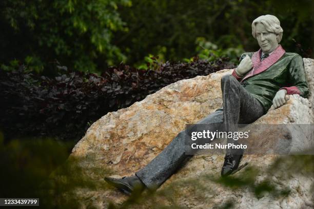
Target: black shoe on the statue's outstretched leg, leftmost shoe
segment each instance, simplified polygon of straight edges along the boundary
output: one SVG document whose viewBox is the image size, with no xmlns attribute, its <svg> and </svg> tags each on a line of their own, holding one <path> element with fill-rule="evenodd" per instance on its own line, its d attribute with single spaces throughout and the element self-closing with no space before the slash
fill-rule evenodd
<svg viewBox="0 0 314 209">
<path fill-rule="evenodd" d="M 123 177 L 121 179 L 105 177 L 105 181 L 123 193 L 131 195 L 133 191 L 142 192 L 145 184 L 137 176 Z"/>
</svg>

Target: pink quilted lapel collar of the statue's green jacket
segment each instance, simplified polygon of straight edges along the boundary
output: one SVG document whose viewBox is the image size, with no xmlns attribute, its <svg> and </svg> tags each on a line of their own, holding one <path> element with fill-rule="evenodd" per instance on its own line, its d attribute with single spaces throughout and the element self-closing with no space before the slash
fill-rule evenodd
<svg viewBox="0 0 314 209">
<path fill-rule="evenodd" d="M 281 47 L 281 45 L 279 45 L 277 49 L 275 49 L 273 53 L 269 55 L 269 57 L 263 59 L 263 61 L 261 61 L 262 49 L 254 52 L 252 55 L 253 69 L 247 73 L 244 78 L 242 78 L 241 82 L 249 77 L 252 77 L 253 75 L 267 70 L 270 66 L 275 64 L 285 54 L 285 52 L 286 51 Z"/>
</svg>

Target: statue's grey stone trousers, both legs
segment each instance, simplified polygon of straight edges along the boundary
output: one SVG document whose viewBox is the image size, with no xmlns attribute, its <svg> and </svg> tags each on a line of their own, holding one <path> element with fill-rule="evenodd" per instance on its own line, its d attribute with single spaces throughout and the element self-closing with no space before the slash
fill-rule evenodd
<svg viewBox="0 0 314 209">
<path fill-rule="evenodd" d="M 197 124 L 216 123 L 210 127 L 210 131 L 215 131 L 217 124 L 223 123 L 223 126 L 219 127 L 223 127 L 227 132 L 235 132 L 238 130 L 238 124 L 251 123 L 264 114 L 261 103 L 233 76 L 222 77 L 221 90 L 223 108 L 209 114 Z M 180 168 L 184 160 L 191 157 L 185 154 L 185 137 L 186 132 L 180 132 L 158 156 L 135 173 L 148 188 L 159 187 Z"/>
</svg>

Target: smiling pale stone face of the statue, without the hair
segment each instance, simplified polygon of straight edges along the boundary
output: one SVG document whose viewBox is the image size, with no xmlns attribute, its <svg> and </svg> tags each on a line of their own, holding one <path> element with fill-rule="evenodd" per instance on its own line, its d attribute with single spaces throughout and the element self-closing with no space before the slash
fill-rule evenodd
<svg viewBox="0 0 314 209">
<path fill-rule="evenodd" d="M 277 35 L 268 32 L 261 23 L 256 25 L 256 39 L 262 51 L 266 54 L 273 52 L 278 47 Z"/>
</svg>

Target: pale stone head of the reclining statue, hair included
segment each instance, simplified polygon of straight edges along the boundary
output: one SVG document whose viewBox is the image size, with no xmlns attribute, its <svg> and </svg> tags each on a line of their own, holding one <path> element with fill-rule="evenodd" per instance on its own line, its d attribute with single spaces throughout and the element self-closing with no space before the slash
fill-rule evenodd
<svg viewBox="0 0 314 209">
<path fill-rule="evenodd" d="M 258 40 L 259 46 L 264 53 L 274 51 L 282 38 L 283 29 L 276 16 L 266 14 L 253 20 L 252 35 Z"/>
</svg>

